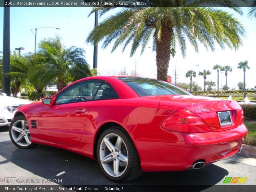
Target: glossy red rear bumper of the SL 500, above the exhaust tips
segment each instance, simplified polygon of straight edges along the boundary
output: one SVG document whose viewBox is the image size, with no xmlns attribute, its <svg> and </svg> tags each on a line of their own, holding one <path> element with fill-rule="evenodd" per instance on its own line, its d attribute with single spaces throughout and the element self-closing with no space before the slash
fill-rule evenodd
<svg viewBox="0 0 256 192">
<path fill-rule="evenodd" d="M 141 168 L 145 172 L 181 171 L 202 160 L 210 164 L 235 154 L 247 135 L 244 124 L 221 132 L 174 133 L 177 140 L 136 140 L 141 159 Z M 136 138 L 136 136 L 135 136 Z M 166 138 L 166 137 L 164 137 Z"/>
</svg>

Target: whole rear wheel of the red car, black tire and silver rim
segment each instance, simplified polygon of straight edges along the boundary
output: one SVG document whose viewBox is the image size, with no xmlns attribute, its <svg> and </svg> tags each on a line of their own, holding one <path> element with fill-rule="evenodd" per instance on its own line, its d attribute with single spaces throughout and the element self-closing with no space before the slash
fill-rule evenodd
<svg viewBox="0 0 256 192">
<path fill-rule="evenodd" d="M 97 160 L 108 179 L 115 182 L 133 180 L 142 174 L 132 139 L 120 127 L 111 127 L 100 135 Z"/>
</svg>

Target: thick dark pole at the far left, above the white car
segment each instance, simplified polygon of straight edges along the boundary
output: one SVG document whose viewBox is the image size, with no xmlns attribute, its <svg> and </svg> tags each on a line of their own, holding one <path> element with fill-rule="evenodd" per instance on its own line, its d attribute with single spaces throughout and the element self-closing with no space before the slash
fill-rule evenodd
<svg viewBox="0 0 256 192">
<path fill-rule="evenodd" d="M 10 76 L 6 75 L 10 70 L 10 7 L 4 6 L 3 92 L 7 96 L 11 96 Z"/>
</svg>

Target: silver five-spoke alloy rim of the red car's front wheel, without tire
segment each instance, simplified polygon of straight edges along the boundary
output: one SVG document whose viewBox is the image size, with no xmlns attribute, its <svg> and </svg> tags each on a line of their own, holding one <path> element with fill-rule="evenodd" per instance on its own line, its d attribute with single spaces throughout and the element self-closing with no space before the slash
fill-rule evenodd
<svg viewBox="0 0 256 192">
<path fill-rule="evenodd" d="M 31 144 L 27 121 L 18 120 L 12 125 L 12 139 L 22 147 Z"/>
</svg>

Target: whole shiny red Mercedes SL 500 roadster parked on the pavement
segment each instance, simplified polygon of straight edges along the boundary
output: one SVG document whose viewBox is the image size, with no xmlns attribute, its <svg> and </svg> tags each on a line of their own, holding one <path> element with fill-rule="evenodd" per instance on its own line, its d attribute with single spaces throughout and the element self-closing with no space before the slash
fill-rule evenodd
<svg viewBox="0 0 256 192">
<path fill-rule="evenodd" d="M 199 169 L 240 151 L 247 134 L 236 101 L 192 96 L 156 79 L 94 76 L 14 111 L 10 137 L 97 159 L 113 181 L 142 172 Z"/>
</svg>

